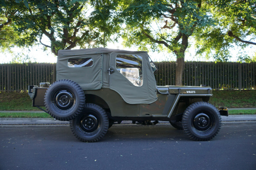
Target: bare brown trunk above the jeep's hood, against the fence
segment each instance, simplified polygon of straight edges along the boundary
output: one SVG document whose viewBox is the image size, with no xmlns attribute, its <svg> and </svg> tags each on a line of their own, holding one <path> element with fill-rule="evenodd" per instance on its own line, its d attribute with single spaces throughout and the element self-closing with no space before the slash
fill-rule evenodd
<svg viewBox="0 0 256 170">
<path fill-rule="evenodd" d="M 182 76 L 185 68 L 184 57 L 177 57 L 176 59 L 176 71 L 175 71 L 175 85 L 182 85 Z"/>
</svg>

